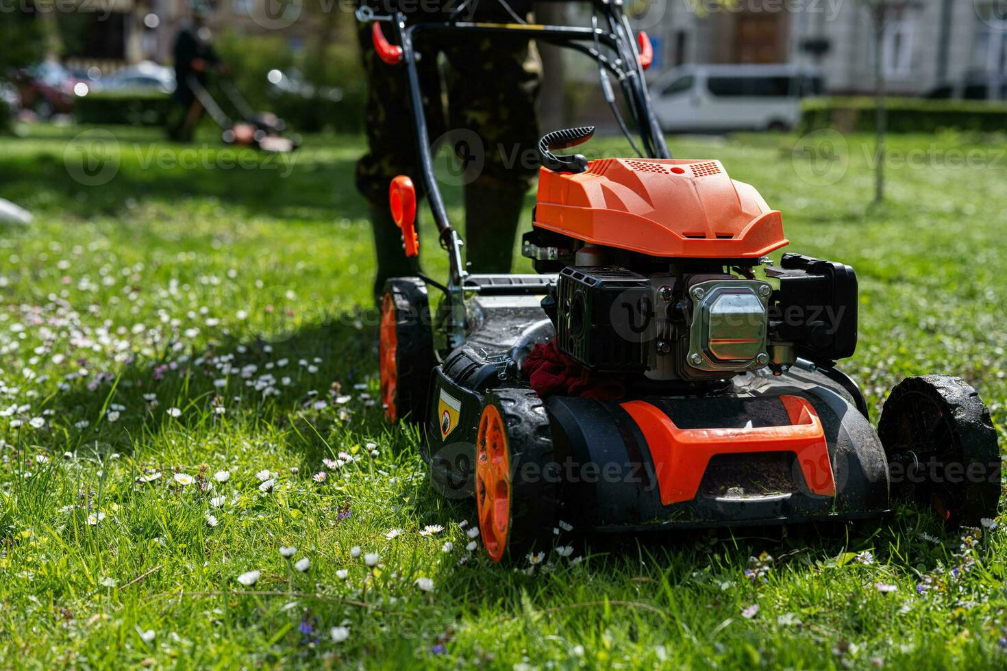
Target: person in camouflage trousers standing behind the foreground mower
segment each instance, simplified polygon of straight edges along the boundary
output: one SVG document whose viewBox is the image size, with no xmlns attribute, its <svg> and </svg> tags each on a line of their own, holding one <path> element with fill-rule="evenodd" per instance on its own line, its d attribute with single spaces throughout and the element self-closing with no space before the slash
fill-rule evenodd
<svg viewBox="0 0 1007 671">
<path fill-rule="evenodd" d="M 432 11 L 432 4 L 407 2 L 402 11 L 410 14 L 411 21 L 443 21 L 448 7 L 457 6 L 444 0 Z M 380 0 L 373 7 L 378 13 L 395 11 L 396 0 Z M 463 13 L 465 20 L 514 23 L 517 18 L 531 20 L 531 0 L 508 5 L 480 2 Z M 425 194 L 404 66 L 389 65 L 378 57 L 371 30 L 366 23 L 358 30 L 369 88 L 369 151 L 356 164 L 356 186 L 370 204 L 378 256 L 374 294 L 380 304 L 387 279 L 414 275 L 389 210 L 389 183 L 396 175 L 408 175 L 417 196 Z M 464 185 L 465 257 L 478 273 L 509 273 L 525 194 L 538 174 L 538 165 L 527 160 L 529 151 L 534 155 L 539 138 L 535 104 L 542 62 L 538 51 L 520 36 L 438 39 L 429 34 L 417 36 L 416 49 L 423 54 L 417 67 L 431 141 L 467 130 L 481 143 L 481 148 L 466 143 L 452 147 L 463 165 L 476 152 L 483 158 L 481 170 Z M 444 72 L 438 52 L 446 56 Z"/>
</svg>

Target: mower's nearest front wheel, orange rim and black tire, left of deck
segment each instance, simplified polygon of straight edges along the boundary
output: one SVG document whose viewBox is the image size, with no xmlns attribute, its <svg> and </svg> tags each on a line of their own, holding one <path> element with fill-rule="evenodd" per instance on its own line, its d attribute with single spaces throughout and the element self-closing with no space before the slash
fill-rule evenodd
<svg viewBox="0 0 1007 671">
<path fill-rule="evenodd" d="M 477 436 L 475 498 L 490 558 L 547 551 L 559 508 L 560 471 L 542 399 L 525 388 L 490 392 Z"/>
</svg>

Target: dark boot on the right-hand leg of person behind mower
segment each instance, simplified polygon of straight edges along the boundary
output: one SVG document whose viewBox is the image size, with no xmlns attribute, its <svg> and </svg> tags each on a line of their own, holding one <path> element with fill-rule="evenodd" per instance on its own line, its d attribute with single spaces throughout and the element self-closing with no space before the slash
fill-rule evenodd
<svg viewBox="0 0 1007 671">
<path fill-rule="evenodd" d="M 465 185 L 465 258 L 471 273 L 510 273 L 526 189 Z"/>
</svg>

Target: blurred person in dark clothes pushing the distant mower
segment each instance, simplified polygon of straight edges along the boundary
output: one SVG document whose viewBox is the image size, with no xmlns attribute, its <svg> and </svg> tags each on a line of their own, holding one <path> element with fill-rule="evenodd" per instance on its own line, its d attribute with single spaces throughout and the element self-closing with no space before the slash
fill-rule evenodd
<svg viewBox="0 0 1007 671">
<path fill-rule="evenodd" d="M 168 127 L 168 136 L 178 142 L 191 142 L 196 124 L 202 118 L 202 105 L 189 86 L 189 77 L 202 87 L 206 86 L 206 74 L 213 67 L 220 67 L 221 60 L 210 42 L 211 33 L 206 26 L 209 7 L 202 3 L 192 5 L 192 21 L 183 25 L 175 36 L 175 92 L 180 115 Z"/>
</svg>

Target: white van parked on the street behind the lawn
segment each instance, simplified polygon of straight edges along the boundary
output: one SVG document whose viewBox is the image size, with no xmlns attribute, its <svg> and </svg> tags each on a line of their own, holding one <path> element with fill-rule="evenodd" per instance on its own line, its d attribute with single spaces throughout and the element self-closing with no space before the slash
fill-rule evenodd
<svg viewBox="0 0 1007 671">
<path fill-rule="evenodd" d="M 681 65 L 650 87 L 665 131 L 707 133 L 794 128 L 801 99 L 823 89 L 818 68 L 751 64 Z"/>
</svg>

